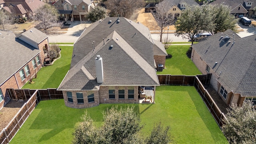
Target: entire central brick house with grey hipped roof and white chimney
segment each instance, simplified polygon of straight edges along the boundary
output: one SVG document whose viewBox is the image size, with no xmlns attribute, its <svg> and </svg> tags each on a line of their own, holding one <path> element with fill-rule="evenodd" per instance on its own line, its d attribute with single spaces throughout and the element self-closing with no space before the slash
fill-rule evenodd
<svg viewBox="0 0 256 144">
<path fill-rule="evenodd" d="M 152 89 L 160 85 L 156 63 L 164 65 L 166 55 L 141 23 L 123 17 L 98 20 L 75 42 L 70 70 L 58 90 L 72 108 L 137 103 L 139 86 L 154 98 Z"/>
</svg>

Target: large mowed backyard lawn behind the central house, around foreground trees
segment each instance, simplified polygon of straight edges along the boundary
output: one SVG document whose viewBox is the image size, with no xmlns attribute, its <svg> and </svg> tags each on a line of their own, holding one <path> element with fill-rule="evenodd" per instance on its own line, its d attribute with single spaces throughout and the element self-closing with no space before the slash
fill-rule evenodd
<svg viewBox="0 0 256 144">
<path fill-rule="evenodd" d="M 228 144 L 193 86 L 159 86 L 155 101 L 135 104 L 144 125 L 142 136 L 149 136 L 154 124 L 162 122 L 171 127 L 172 144 Z M 41 101 L 10 144 L 70 144 L 74 126 L 86 110 L 94 124 L 100 126 L 102 112 L 114 105 L 132 104 L 76 109 L 66 107 L 63 99 Z"/>
</svg>

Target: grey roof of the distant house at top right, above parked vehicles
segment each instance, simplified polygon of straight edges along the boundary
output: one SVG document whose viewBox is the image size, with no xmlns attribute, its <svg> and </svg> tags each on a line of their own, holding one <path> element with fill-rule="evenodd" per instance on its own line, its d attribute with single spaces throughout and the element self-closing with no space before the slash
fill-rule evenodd
<svg viewBox="0 0 256 144">
<path fill-rule="evenodd" d="M 211 2 L 210 4 L 225 4 L 231 7 L 231 14 L 236 13 L 247 13 L 247 8 L 243 5 L 244 0 L 215 0 L 214 2 Z M 253 2 L 256 4 L 256 2 Z M 253 4 L 252 3 L 252 4 Z M 238 8 L 240 9 L 238 10 Z"/>
</svg>

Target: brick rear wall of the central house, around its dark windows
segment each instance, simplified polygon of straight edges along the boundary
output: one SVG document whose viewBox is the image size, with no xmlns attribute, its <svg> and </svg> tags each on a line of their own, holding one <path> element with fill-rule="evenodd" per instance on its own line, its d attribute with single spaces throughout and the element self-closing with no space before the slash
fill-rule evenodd
<svg viewBox="0 0 256 144">
<path fill-rule="evenodd" d="M 102 104 L 102 103 L 109 103 L 109 104 L 112 104 L 112 103 L 136 103 L 137 96 L 138 96 L 138 86 L 134 86 L 134 98 L 133 99 L 128 99 L 128 86 L 124 87 L 125 88 L 124 99 L 118 98 L 118 86 L 116 86 L 115 88 L 116 88 L 115 99 L 109 99 L 108 86 L 100 86 L 100 90 L 94 91 L 94 102 L 90 102 L 90 103 L 88 103 L 87 91 L 70 91 L 70 92 L 72 92 L 73 102 L 68 102 L 68 97 L 67 97 L 67 93 L 66 93 L 67 91 L 62 91 L 62 92 L 63 92 L 65 105 L 70 108 L 89 108 L 92 106 L 98 106 L 99 104 Z M 84 104 L 77 103 L 76 92 L 83 93 Z"/>
</svg>

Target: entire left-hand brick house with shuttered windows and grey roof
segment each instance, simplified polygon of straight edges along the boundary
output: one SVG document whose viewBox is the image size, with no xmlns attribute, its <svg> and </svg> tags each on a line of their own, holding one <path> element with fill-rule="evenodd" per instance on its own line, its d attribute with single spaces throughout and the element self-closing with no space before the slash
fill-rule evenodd
<svg viewBox="0 0 256 144">
<path fill-rule="evenodd" d="M 0 109 L 10 100 L 7 88 L 21 88 L 40 70 L 44 47 L 49 48 L 48 36 L 36 28 L 17 37 L 0 31 Z"/>
</svg>

